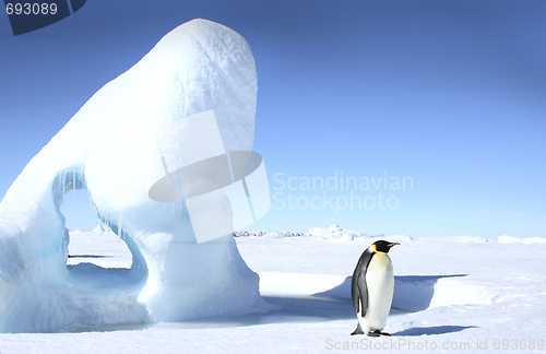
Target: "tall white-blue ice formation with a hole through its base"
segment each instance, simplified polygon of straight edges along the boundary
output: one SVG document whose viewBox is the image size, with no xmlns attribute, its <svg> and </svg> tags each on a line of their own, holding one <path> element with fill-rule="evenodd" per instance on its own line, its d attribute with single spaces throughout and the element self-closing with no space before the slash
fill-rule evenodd
<svg viewBox="0 0 546 354">
<path fill-rule="evenodd" d="M 195 243 L 185 203 L 156 202 L 149 188 L 163 172 L 154 131 L 213 109 L 225 150 L 251 151 L 256 99 L 248 44 L 205 20 L 167 34 L 90 98 L 0 203 L 0 331 L 175 321 L 253 306 L 259 278 L 233 236 Z M 73 188 L 87 189 L 98 217 L 127 243 L 131 269 L 67 266 L 60 205 Z M 216 202 L 230 213 L 225 196 Z"/>
</svg>

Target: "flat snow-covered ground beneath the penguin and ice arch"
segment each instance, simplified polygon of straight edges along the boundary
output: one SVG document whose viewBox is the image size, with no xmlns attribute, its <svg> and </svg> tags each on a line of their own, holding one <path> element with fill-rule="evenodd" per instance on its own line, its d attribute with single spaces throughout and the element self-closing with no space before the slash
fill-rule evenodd
<svg viewBox="0 0 546 354">
<path fill-rule="evenodd" d="M 0 353 L 546 352 L 544 239 L 381 236 L 401 243 L 390 252 L 396 283 L 385 330 L 392 337 L 370 339 L 349 335 L 356 327 L 349 283 L 377 237 L 340 236 L 237 237 L 271 304 L 263 312 L 0 334 Z M 69 263 L 102 267 L 129 267 L 131 257 L 115 235 L 79 231 L 71 232 L 69 253 L 76 256 Z"/>
</svg>

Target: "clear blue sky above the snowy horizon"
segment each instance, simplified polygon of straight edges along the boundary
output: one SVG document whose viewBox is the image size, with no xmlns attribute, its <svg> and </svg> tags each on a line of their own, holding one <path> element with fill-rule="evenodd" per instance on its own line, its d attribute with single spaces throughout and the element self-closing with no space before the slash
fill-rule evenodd
<svg viewBox="0 0 546 354">
<path fill-rule="evenodd" d="M 0 194 L 97 90 L 195 17 L 240 33 L 257 62 L 272 209 L 249 229 L 546 237 L 544 1 L 87 0 L 17 37 L 0 15 Z M 404 177 L 413 188 L 390 188 Z M 83 197 L 63 211 L 93 227 Z"/>
</svg>

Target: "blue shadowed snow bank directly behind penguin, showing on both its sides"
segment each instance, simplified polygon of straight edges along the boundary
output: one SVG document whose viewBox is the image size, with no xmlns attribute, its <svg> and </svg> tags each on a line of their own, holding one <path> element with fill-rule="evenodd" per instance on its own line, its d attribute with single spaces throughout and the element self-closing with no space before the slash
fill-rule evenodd
<svg viewBox="0 0 546 354">
<path fill-rule="evenodd" d="M 438 280 L 443 278 L 460 278 L 468 274 L 451 275 L 396 275 L 394 276 L 394 295 L 392 308 L 403 311 L 423 311 L 430 306 L 435 295 L 435 286 Z M 316 296 L 336 296 L 351 298 L 351 282 L 353 276 L 347 276 L 340 285 L 314 294 Z"/>
</svg>

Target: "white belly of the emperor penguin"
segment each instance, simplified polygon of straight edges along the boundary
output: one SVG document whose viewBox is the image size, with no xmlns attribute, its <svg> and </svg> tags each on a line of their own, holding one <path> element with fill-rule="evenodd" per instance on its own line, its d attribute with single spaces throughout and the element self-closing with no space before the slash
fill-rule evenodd
<svg viewBox="0 0 546 354">
<path fill-rule="evenodd" d="M 394 292 L 394 273 L 389 256 L 377 252 L 371 258 L 366 271 L 368 287 L 368 310 L 364 318 L 357 315 L 360 328 L 365 333 L 382 330 L 391 310 L 392 294 Z"/>
</svg>

